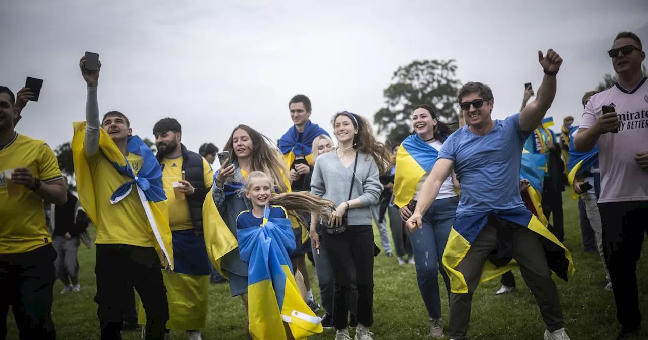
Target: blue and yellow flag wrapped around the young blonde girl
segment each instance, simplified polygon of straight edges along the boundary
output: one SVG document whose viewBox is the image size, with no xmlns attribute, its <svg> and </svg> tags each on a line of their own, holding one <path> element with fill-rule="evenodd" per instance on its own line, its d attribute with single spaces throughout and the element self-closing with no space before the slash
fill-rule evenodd
<svg viewBox="0 0 648 340">
<path fill-rule="evenodd" d="M 289 253 L 295 236 L 288 218 L 268 218 L 262 225 L 238 229 L 240 255 L 248 262 L 248 321 L 253 339 L 286 339 L 287 323 L 295 339 L 323 332 L 321 318 L 301 297 Z"/>
</svg>

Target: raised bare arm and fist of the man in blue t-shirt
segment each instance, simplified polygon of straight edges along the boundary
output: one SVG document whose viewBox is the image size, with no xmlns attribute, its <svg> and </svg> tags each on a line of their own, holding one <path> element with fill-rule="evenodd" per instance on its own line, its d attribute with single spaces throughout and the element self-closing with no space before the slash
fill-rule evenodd
<svg viewBox="0 0 648 340">
<path fill-rule="evenodd" d="M 538 51 L 538 60 L 540 66 L 544 69 L 544 78 L 538 88 L 538 94 L 520 113 L 520 128 L 522 131 L 531 132 L 540 125 L 544 115 L 546 115 L 553 98 L 556 96 L 556 74 L 561 68 L 561 56 L 549 49 L 546 56 L 542 56 L 542 51 Z"/>
</svg>

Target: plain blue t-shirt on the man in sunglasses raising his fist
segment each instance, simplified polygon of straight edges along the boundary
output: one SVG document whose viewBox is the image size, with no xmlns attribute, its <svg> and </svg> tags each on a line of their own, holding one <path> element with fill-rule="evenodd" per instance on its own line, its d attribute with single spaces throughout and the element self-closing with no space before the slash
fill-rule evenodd
<svg viewBox="0 0 648 340">
<path fill-rule="evenodd" d="M 446 139 L 439 158 L 454 161 L 461 183 L 457 215 L 525 207 L 520 196 L 522 146 L 529 133 L 520 129 L 520 113 L 495 120 L 486 135 L 475 135 L 468 126 Z"/>
</svg>

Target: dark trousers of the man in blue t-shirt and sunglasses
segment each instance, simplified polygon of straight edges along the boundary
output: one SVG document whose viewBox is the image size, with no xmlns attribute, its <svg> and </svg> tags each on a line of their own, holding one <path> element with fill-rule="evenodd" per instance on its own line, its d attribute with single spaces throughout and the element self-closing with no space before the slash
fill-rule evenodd
<svg viewBox="0 0 648 340">
<path fill-rule="evenodd" d="M 518 225 L 513 231 L 513 258 L 520 264 L 522 277 L 535 296 L 542 320 L 547 329 L 553 332 L 563 327 L 562 308 L 558 289 L 551 279 L 551 269 L 540 244 L 540 237 L 542 236 L 527 227 Z M 448 328 L 451 339 L 468 339 L 472 295 L 480 283 L 481 271 L 489 253 L 497 246 L 497 229 L 491 223 L 487 223 L 456 268 L 466 280 L 468 293 L 450 293 Z"/>
</svg>

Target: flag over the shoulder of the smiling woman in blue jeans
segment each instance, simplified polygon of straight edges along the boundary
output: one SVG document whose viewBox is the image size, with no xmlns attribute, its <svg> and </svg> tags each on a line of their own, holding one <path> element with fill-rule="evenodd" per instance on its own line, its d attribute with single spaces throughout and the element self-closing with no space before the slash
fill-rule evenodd
<svg viewBox="0 0 648 340">
<path fill-rule="evenodd" d="M 439 152 L 417 134 L 406 137 L 396 155 L 394 205 L 402 208 L 410 203 L 421 177 L 432 170 L 438 156 Z"/>
</svg>

